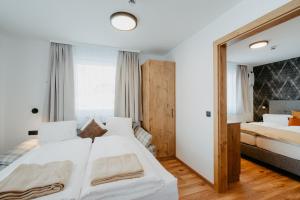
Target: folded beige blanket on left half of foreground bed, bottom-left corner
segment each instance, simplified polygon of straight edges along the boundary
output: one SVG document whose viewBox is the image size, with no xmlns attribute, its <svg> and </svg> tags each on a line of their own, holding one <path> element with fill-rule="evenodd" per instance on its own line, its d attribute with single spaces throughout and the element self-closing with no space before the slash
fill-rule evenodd
<svg viewBox="0 0 300 200">
<path fill-rule="evenodd" d="M 0 199 L 27 200 L 60 192 L 67 184 L 71 161 L 22 164 L 0 182 Z"/>
</svg>

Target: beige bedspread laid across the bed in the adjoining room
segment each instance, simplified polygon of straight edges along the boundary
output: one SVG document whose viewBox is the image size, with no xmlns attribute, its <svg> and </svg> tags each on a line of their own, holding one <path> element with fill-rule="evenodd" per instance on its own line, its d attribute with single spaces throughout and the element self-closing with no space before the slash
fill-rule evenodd
<svg viewBox="0 0 300 200">
<path fill-rule="evenodd" d="M 243 123 L 241 124 L 241 132 L 300 145 L 300 133 L 294 131 L 266 127 L 252 123 Z"/>
</svg>

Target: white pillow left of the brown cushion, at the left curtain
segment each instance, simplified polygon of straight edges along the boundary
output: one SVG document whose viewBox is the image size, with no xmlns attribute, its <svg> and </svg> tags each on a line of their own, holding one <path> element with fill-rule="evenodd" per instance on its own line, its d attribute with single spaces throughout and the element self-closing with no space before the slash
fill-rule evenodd
<svg viewBox="0 0 300 200">
<path fill-rule="evenodd" d="M 42 123 L 38 133 L 41 144 L 59 142 L 77 137 L 76 121 Z"/>
</svg>

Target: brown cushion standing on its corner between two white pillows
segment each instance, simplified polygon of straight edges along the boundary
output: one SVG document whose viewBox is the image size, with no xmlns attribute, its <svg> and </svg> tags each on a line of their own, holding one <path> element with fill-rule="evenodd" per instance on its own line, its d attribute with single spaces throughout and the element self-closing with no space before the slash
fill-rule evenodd
<svg viewBox="0 0 300 200">
<path fill-rule="evenodd" d="M 101 128 L 95 120 L 92 120 L 84 130 L 79 134 L 82 138 L 91 138 L 94 142 L 95 137 L 101 137 L 107 132 L 106 129 Z"/>
</svg>

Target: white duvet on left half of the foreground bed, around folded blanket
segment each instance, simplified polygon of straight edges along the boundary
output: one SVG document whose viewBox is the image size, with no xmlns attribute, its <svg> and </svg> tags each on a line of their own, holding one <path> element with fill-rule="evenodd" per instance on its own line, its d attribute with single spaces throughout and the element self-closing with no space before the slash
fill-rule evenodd
<svg viewBox="0 0 300 200">
<path fill-rule="evenodd" d="M 8 176 L 20 164 L 45 164 L 52 161 L 73 162 L 72 175 L 63 191 L 38 199 L 73 200 L 78 199 L 91 148 L 91 139 L 72 139 L 49 143 L 37 147 L 0 172 L 0 180 Z"/>
</svg>

